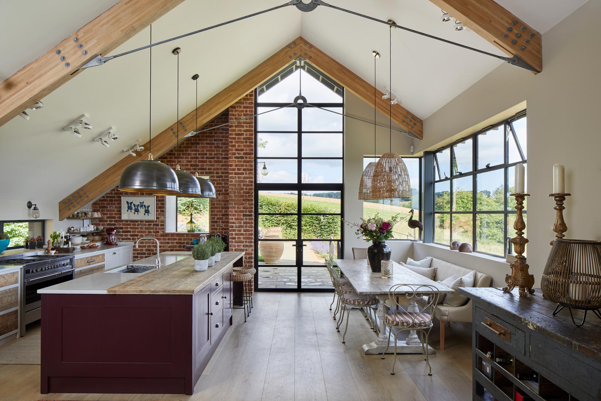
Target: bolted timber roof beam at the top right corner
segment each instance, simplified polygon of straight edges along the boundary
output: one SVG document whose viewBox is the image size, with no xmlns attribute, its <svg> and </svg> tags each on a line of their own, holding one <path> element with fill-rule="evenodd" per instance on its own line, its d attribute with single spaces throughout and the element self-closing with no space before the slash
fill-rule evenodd
<svg viewBox="0 0 601 401">
<path fill-rule="evenodd" d="M 543 37 L 493 0 L 430 0 L 451 17 L 501 49 L 543 70 Z"/>
</svg>

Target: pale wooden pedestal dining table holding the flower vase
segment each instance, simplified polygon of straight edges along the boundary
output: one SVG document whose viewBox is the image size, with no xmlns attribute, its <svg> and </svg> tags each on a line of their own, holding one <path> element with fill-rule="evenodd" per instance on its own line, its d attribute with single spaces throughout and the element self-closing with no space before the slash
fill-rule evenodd
<svg viewBox="0 0 601 401">
<path fill-rule="evenodd" d="M 387 353 L 394 352 L 394 338 L 391 337 L 390 344 L 388 344 L 388 329 L 384 324 L 384 315 L 388 312 L 388 306 L 386 306 L 386 300 L 389 299 L 389 290 L 392 285 L 395 284 L 410 284 L 413 287 L 416 285 L 429 285 L 437 288 L 440 291 L 441 296 L 444 294 L 452 293 L 453 290 L 444 284 L 430 280 L 412 270 L 406 269 L 406 267 L 393 262 L 393 273 L 392 278 L 383 278 L 382 273 L 371 272 L 370 267 L 367 265 L 365 259 L 337 259 L 335 260 L 338 268 L 343 273 L 344 277 L 349 279 L 350 284 L 355 288 L 359 295 L 371 295 L 376 296 L 379 299 L 377 305 L 377 325 L 379 327 L 379 334 L 376 340 L 369 344 L 363 344 L 362 349 L 366 355 L 375 355 L 382 353 L 388 347 Z M 419 312 L 416 300 L 419 297 L 427 296 L 433 293 L 428 287 L 421 287 L 415 294 L 413 291 L 409 291 L 409 287 L 406 287 L 407 291 L 395 291 L 394 296 L 406 296 L 409 299 L 408 312 Z M 410 295 L 409 295 L 410 294 Z M 423 353 L 424 350 L 421 346 L 421 341 L 415 330 L 409 332 L 409 336 L 405 341 L 398 341 L 397 353 Z M 428 346 L 428 353 L 436 353 L 436 351 Z"/>
</svg>

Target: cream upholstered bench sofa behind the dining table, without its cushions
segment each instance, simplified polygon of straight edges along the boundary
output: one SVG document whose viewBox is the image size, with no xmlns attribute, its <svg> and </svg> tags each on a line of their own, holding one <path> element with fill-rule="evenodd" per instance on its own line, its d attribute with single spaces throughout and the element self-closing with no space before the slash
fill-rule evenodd
<svg viewBox="0 0 601 401">
<path fill-rule="evenodd" d="M 435 281 L 444 281 L 453 275 L 462 277 L 471 272 L 471 269 L 432 258 L 430 267 L 436 267 Z M 473 287 L 490 287 L 492 277 L 484 273 L 475 272 Z M 418 300 L 418 302 L 420 302 Z M 472 322 L 472 300 L 465 305 L 450 306 L 439 303 L 434 310 L 434 317 L 441 321 L 441 349 L 445 349 L 445 322 Z"/>
</svg>

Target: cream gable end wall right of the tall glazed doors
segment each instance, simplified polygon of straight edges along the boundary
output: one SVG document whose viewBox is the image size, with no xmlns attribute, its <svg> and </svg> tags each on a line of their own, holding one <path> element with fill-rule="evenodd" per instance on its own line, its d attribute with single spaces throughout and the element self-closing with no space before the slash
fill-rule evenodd
<svg viewBox="0 0 601 401">
<path fill-rule="evenodd" d="M 373 121 L 374 108 L 357 96 L 346 92 L 344 98 L 345 113 L 353 117 Z M 388 125 L 388 116 L 377 113 L 376 122 Z M 392 123 L 395 128 L 400 128 Z M 357 199 L 359 181 L 363 173 L 363 157 L 374 154 L 374 126 L 354 119 L 344 120 L 344 216 L 349 222 L 361 223 L 363 217 L 363 201 Z M 389 151 L 389 129 L 377 127 L 376 154 L 382 155 Z M 412 138 L 400 132 L 392 131 L 392 151 L 401 156 L 410 156 L 409 146 Z M 412 256 L 410 241 L 386 241 L 392 248 L 392 260 L 406 261 Z M 355 235 L 355 228 L 344 226 L 344 258 L 353 258 L 352 247 L 367 247 L 369 243 Z"/>
</svg>

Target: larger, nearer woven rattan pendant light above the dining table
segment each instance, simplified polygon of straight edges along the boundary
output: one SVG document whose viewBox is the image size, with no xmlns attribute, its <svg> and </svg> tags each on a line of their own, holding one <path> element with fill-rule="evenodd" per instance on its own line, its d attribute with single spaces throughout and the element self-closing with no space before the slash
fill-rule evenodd
<svg viewBox="0 0 601 401">
<path fill-rule="evenodd" d="M 394 22 L 393 22 L 394 23 Z M 390 83 L 392 92 L 392 26 L 389 31 L 390 37 Z M 390 99 L 392 101 L 392 99 Z M 392 103 L 389 105 L 389 152 L 385 153 L 377 161 L 371 179 L 372 199 L 394 199 L 397 197 L 411 197 L 411 182 L 409 172 L 403 159 L 392 153 Z"/>
</svg>

